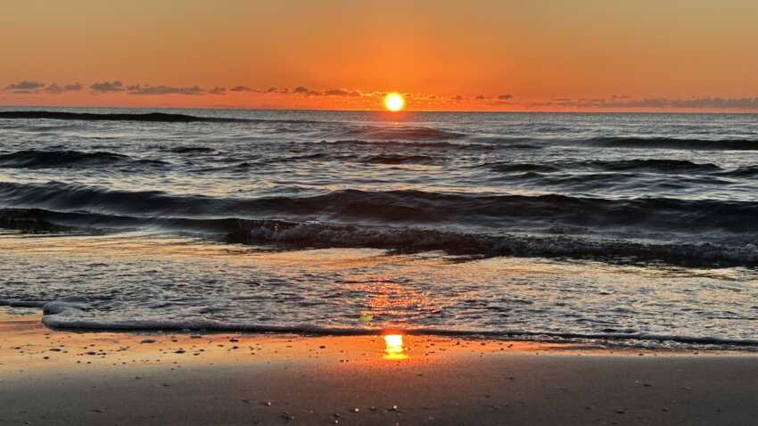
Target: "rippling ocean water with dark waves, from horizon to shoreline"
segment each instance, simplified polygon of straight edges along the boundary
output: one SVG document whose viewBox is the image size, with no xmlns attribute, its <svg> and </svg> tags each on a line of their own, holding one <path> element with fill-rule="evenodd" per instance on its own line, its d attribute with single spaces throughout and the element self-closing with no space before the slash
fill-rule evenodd
<svg viewBox="0 0 758 426">
<path fill-rule="evenodd" d="M 758 116 L 0 111 L 52 328 L 758 348 Z"/>
</svg>

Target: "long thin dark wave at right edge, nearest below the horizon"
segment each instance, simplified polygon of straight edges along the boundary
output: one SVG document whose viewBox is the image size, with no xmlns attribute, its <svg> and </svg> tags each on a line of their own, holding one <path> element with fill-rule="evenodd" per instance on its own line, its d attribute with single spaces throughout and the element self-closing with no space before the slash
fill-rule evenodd
<svg viewBox="0 0 758 426">
<path fill-rule="evenodd" d="M 594 137 L 576 141 L 608 148 L 657 148 L 700 151 L 758 151 L 756 139 L 680 139 L 672 137 Z"/>
</svg>

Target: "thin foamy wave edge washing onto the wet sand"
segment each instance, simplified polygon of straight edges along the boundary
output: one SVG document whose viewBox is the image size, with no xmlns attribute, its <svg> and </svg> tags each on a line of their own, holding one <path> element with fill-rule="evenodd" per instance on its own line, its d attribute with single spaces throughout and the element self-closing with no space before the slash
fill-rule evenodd
<svg viewBox="0 0 758 426">
<path fill-rule="evenodd" d="M 482 337 L 491 339 L 536 339 L 536 340 L 606 340 L 673 342 L 691 345 L 721 347 L 758 347 L 756 339 L 730 339 L 719 336 L 692 336 L 651 332 L 552 332 L 540 330 L 473 330 L 441 327 L 350 327 L 315 324 L 255 324 L 234 321 L 194 319 L 108 319 L 93 315 L 96 307 L 90 300 L 68 296 L 50 301 L 0 299 L 0 306 L 42 308 L 42 323 L 53 330 L 80 332 L 251 332 L 295 333 L 303 335 L 365 336 L 394 332 L 409 335 L 433 335 L 448 337 Z M 639 344 L 639 343 L 637 343 Z"/>
</svg>

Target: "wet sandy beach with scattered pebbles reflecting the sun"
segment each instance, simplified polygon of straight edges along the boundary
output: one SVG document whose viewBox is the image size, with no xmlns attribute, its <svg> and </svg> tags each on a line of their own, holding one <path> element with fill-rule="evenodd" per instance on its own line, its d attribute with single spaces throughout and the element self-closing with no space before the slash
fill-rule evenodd
<svg viewBox="0 0 758 426">
<path fill-rule="evenodd" d="M 758 356 L 405 336 L 53 332 L 0 316 L 0 424 L 754 424 Z"/>
</svg>

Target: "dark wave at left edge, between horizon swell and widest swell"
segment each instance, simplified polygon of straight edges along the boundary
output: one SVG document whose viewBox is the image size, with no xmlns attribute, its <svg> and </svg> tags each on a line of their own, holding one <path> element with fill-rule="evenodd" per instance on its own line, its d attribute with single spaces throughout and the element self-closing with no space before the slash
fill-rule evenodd
<svg viewBox="0 0 758 426">
<path fill-rule="evenodd" d="M 161 160 L 136 160 L 113 152 L 26 150 L 0 155 L 0 168 L 75 168 L 119 163 L 142 166 L 169 164 Z"/>
</svg>

